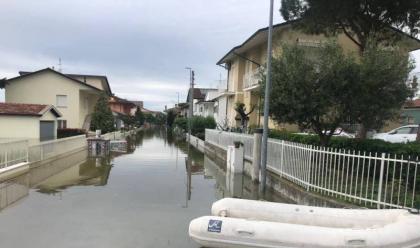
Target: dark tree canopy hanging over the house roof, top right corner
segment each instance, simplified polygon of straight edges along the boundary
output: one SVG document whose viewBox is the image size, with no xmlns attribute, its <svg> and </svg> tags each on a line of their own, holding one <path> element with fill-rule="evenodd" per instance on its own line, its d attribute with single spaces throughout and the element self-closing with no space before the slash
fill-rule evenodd
<svg viewBox="0 0 420 248">
<path fill-rule="evenodd" d="M 285 20 L 298 20 L 309 33 L 334 35 L 343 32 L 363 51 L 374 38 L 375 44 L 393 43 L 399 31 L 415 36 L 420 28 L 418 0 L 281 0 Z"/>
</svg>

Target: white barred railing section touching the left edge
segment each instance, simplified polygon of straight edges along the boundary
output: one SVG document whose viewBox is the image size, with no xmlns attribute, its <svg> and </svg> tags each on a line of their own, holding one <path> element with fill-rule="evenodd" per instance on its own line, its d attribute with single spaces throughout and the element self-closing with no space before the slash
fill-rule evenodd
<svg viewBox="0 0 420 248">
<path fill-rule="evenodd" d="M 0 169 L 28 161 L 28 140 L 0 140 Z"/>
</svg>

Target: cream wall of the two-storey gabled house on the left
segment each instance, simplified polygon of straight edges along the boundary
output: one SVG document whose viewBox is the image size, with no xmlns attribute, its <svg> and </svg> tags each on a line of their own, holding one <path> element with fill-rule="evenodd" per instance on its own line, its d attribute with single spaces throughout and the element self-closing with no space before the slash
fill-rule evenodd
<svg viewBox="0 0 420 248">
<path fill-rule="evenodd" d="M 56 106 L 57 95 L 67 96 L 67 107 L 57 107 L 62 113 L 60 119 L 67 120 L 68 128 L 81 128 L 85 115 L 80 91 L 90 92 L 89 97 L 97 91 L 76 83 L 53 72 L 42 72 L 32 76 L 13 80 L 5 87 L 5 100 L 8 103 L 35 103 Z M 90 102 L 93 102 L 90 99 Z M 91 104 L 92 105 L 92 104 Z"/>
</svg>

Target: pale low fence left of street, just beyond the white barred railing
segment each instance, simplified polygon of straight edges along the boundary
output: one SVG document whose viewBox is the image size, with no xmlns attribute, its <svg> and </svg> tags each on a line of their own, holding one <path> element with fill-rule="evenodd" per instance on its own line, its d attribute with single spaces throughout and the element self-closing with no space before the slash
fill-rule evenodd
<svg viewBox="0 0 420 248">
<path fill-rule="evenodd" d="M 40 142 L 29 147 L 29 162 L 49 159 L 83 147 L 87 147 L 85 135 Z"/>
</svg>

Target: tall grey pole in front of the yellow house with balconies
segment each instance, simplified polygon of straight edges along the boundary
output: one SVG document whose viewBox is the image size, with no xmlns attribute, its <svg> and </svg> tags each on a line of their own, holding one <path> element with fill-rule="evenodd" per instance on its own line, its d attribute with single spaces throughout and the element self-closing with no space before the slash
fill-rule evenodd
<svg viewBox="0 0 420 248">
<path fill-rule="evenodd" d="M 267 142 L 268 142 L 268 115 L 270 111 L 270 90 L 271 90 L 271 57 L 273 46 L 273 9 L 274 0 L 270 0 L 270 17 L 268 26 L 268 45 L 267 45 L 267 75 L 264 94 L 264 128 L 261 149 L 261 191 L 265 191 L 267 177 Z"/>
</svg>

